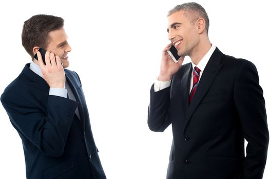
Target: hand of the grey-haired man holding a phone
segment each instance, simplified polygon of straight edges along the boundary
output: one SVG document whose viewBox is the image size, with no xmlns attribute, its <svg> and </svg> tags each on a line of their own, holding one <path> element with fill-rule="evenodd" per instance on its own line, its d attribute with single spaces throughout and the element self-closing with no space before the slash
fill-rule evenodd
<svg viewBox="0 0 270 179">
<path fill-rule="evenodd" d="M 167 47 L 162 51 L 162 59 L 160 64 L 160 74 L 158 77 L 159 81 L 169 81 L 172 75 L 175 74 L 180 68 L 185 57 L 181 57 L 180 60 L 175 63 L 167 53 L 167 50 L 172 46 L 172 43 L 168 44 Z"/>
</svg>

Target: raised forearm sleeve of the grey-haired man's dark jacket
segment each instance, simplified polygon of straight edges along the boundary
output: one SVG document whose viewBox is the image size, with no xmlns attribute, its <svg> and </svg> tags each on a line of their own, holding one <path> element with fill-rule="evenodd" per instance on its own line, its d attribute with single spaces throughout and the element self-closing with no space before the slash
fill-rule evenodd
<svg viewBox="0 0 270 179">
<path fill-rule="evenodd" d="M 150 104 L 148 106 L 148 127 L 152 131 L 163 132 L 170 124 L 169 113 L 170 87 L 154 92 L 150 89 Z"/>
</svg>

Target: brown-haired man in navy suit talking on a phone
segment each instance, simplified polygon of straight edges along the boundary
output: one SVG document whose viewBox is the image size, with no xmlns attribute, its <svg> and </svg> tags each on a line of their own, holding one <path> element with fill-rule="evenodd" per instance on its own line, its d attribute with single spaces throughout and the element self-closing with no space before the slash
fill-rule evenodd
<svg viewBox="0 0 270 179">
<path fill-rule="evenodd" d="M 63 26 L 52 15 L 25 21 L 22 43 L 32 61 L 1 102 L 22 138 L 27 178 L 104 179 L 80 78 L 64 69 L 71 48 Z M 47 50 L 46 65 L 40 48 Z"/>
</svg>

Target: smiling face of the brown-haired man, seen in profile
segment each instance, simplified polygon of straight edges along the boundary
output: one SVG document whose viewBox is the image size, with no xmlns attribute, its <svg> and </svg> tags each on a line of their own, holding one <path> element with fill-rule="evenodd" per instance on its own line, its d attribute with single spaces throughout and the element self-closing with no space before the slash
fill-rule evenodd
<svg viewBox="0 0 270 179">
<path fill-rule="evenodd" d="M 54 55 L 58 55 L 63 63 L 63 68 L 69 66 L 68 52 L 71 51 L 71 47 L 67 42 L 67 34 L 64 28 L 49 32 L 50 42 L 46 50 L 50 50 Z"/>
</svg>

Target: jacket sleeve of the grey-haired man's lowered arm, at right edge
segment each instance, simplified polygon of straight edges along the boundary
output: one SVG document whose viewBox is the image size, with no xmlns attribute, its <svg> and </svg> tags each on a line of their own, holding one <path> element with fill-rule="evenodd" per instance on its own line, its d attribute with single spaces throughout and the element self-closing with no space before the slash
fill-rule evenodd
<svg viewBox="0 0 270 179">
<path fill-rule="evenodd" d="M 269 133 L 263 91 L 253 63 L 246 61 L 235 80 L 235 104 L 247 141 L 243 179 L 259 179 L 266 163 Z"/>
</svg>

